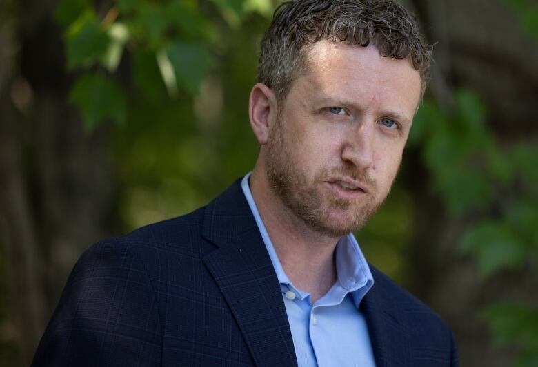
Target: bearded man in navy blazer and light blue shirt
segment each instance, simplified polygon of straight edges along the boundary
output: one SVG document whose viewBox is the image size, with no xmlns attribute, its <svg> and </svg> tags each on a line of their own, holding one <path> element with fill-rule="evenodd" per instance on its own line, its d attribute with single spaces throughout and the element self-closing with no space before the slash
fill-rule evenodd
<svg viewBox="0 0 538 367">
<path fill-rule="evenodd" d="M 94 245 L 34 366 L 455 366 L 447 326 L 351 234 L 381 205 L 430 47 L 391 1 L 293 1 L 261 43 L 251 174 Z"/>
</svg>

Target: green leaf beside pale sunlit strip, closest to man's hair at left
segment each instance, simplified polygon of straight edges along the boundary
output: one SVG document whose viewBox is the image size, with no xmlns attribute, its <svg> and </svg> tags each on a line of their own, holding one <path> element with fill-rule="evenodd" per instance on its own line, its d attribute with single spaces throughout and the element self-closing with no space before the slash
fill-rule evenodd
<svg viewBox="0 0 538 367">
<path fill-rule="evenodd" d="M 177 84 L 191 93 L 198 93 L 201 82 L 214 64 L 210 53 L 197 43 L 172 43 L 167 48 Z"/>
</svg>

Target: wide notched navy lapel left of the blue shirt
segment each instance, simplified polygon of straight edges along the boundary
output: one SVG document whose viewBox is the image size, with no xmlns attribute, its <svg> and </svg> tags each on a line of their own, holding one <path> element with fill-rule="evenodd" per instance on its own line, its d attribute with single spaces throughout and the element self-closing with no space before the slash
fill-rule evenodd
<svg viewBox="0 0 538 367">
<path fill-rule="evenodd" d="M 203 257 L 259 367 L 297 366 L 279 282 L 239 180 L 205 211 Z"/>
</svg>

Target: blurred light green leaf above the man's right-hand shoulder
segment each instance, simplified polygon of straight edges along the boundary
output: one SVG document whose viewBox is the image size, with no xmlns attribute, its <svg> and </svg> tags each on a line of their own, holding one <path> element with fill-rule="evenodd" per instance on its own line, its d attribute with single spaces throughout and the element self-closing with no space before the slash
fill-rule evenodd
<svg viewBox="0 0 538 367">
<path fill-rule="evenodd" d="M 518 268 L 526 259 L 525 245 L 503 222 L 482 222 L 472 227 L 464 234 L 459 250 L 475 255 L 484 277 L 500 269 Z"/>
</svg>

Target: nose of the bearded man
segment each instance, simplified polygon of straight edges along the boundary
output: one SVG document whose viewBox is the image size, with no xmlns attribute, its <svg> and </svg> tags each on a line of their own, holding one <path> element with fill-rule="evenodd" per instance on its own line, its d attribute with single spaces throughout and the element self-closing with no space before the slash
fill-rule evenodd
<svg viewBox="0 0 538 367">
<path fill-rule="evenodd" d="M 352 124 L 355 125 L 355 124 Z M 341 158 L 358 169 L 372 167 L 374 161 L 375 124 L 360 123 L 350 126 L 344 136 Z"/>
</svg>

